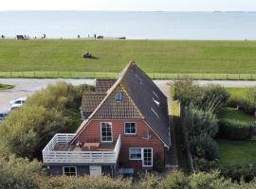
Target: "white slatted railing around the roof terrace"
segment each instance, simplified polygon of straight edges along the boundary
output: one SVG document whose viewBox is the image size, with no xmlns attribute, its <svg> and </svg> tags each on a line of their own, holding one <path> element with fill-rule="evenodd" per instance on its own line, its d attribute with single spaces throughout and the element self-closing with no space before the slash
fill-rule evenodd
<svg viewBox="0 0 256 189">
<path fill-rule="evenodd" d="M 56 134 L 43 149 L 44 163 L 117 163 L 121 139 L 113 151 L 58 151 L 57 144 L 68 144 L 75 134 Z"/>
</svg>

